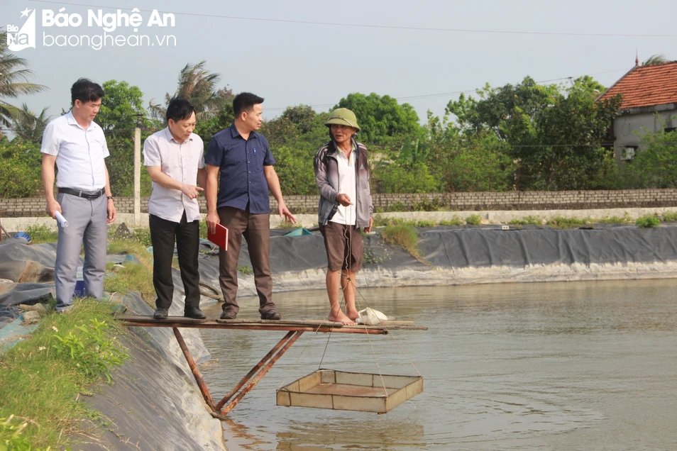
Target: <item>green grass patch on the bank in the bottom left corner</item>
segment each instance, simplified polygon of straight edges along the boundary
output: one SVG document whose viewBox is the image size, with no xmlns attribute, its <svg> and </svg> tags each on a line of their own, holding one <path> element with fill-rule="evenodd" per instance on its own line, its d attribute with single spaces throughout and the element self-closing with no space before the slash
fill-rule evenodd
<svg viewBox="0 0 677 451">
<path fill-rule="evenodd" d="M 126 360 L 117 339 L 126 332 L 112 321 L 113 311 L 108 302 L 77 300 L 0 356 L 0 418 L 13 416 L 0 427 L 0 449 L 13 449 L 3 447 L 10 439 L 19 450 L 63 449 L 82 418 L 98 417 L 77 399 Z M 17 437 L 12 429 L 24 424 Z M 32 447 L 18 447 L 21 440 Z"/>
</svg>

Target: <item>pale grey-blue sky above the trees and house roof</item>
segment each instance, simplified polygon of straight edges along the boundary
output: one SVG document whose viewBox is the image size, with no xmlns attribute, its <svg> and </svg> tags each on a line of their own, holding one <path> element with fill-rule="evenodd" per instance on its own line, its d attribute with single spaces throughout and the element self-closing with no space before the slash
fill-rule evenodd
<svg viewBox="0 0 677 451">
<path fill-rule="evenodd" d="M 265 97 L 268 119 L 287 106 L 307 104 L 316 111 L 329 111 L 352 92 L 375 92 L 411 104 L 422 121 L 426 111 L 444 115 L 446 104 L 458 99 L 460 91 L 473 94 L 486 83 L 516 84 L 527 75 L 536 82 L 564 83 L 567 77 L 589 74 L 609 87 L 634 66 L 636 53 L 640 62 L 655 54 L 677 60 L 674 0 L 644 4 L 625 0 L 0 0 L 0 4 L 0 26 L 6 30 L 20 28 L 29 17 L 21 17 L 21 12 L 35 9 L 35 48 L 14 54 L 25 58 L 35 72 L 31 81 L 49 89 L 13 103 L 26 102 L 34 111 L 48 106 L 51 116 L 70 107 L 70 86 L 79 77 L 99 84 L 124 80 L 143 91 L 146 103 L 158 102 L 175 91 L 182 67 L 202 60 L 211 72 L 221 74 L 221 87 Z M 62 8 L 71 25 L 50 24 L 49 18 L 57 18 Z M 96 23 L 88 26 L 89 10 L 94 15 L 118 9 L 131 14 L 134 8 L 142 18 L 136 33 L 132 27 L 105 32 Z M 160 17 L 173 13 L 173 26 L 170 21 L 166 26 L 149 26 L 153 9 Z M 75 14 L 82 17 L 79 26 L 73 26 Z M 147 35 L 147 43 L 155 45 L 107 45 L 94 50 L 83 44 L 104 33 L 125 40 Z M 71 45 L 56 45 L 66 39 Z"/>
</svg>

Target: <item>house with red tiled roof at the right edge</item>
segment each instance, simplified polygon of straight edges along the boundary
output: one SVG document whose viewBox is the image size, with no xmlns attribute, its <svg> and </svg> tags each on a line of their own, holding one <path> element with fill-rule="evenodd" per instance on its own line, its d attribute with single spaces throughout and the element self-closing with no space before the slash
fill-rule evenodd
<svg viewBox="0 0 677 451">
<path fill-rule="evenodd" d="M 640 66 L 639 62 L 598 100 L 622 96 L 620 114 L 610 130 L 616 160 L 632 160 L 644 133 L 677 127 L 677 61 Z"/>
</svg>

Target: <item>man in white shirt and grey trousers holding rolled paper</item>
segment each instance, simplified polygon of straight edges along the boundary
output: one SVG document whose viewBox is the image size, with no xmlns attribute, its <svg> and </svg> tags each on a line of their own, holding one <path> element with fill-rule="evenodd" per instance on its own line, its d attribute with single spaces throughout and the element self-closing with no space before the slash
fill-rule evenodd
<svg viewBox="0 0 677 451">
<path fill-rule="evenodd" d="M 107 225 L 116 218 L 104 161 L 109 155 L 108 146 L 103 130 L 94 123 L 104 89 L 81 78 L 73 84 L 70 94 L 71 111 L 48 123 L 40 149 L 47 211 L 52 218 L 56 218 L 58 212 L 68 221 L 67 227 L 58 225 L 54 268 L 56 310 L 60 312 L 72 306 L 77 263 L 83 244 L 85 293 L 97 299 L 104 295 Z M 56 197 L 55 165 L 59 169 Z"/>
</svg>

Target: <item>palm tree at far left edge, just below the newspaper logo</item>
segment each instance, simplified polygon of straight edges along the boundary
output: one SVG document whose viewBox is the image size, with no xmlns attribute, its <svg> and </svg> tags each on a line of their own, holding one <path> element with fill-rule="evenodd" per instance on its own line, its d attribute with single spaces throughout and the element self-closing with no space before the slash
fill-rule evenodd
<svg viewBox="0 0 677 451">
<path fill-rule="evenodd" d="M 16 57 L 8 50 L 7 32 L 0 30 L 0 126 L 5 127 L 10 127 L 12 117 L 21 111 L 5 99 L 16 99 L 22 94 L 36 94 L 47 89 L 41 84 L 28 83 L 33 71 L 24 69 L 28 65 L 26 60 Z"/>
</svg>

